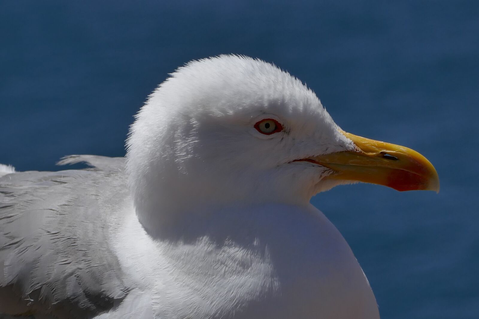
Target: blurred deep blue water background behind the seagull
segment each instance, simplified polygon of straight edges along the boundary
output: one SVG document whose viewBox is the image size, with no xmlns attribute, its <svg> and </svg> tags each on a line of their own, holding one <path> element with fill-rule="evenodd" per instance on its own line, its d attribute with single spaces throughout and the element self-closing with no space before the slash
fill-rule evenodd
<svg viewBox="0 0 479 319">
<path fill-rule="evenodd" d="M 336 187 L 312 199 L 383 318 L 479 318 L 479 1 L 1 1 L 0 163 L 123 156 L 177 66 L 236 53 L 307 83 L 346 131 L 431 160 L 441 192 Z M 473 200 L 474 199 L 474 200 Z"/>
</svg>

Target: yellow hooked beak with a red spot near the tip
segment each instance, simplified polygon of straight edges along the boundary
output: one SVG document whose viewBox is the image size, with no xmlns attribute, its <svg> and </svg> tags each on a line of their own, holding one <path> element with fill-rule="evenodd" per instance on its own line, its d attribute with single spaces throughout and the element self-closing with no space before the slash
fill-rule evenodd
<svg viewBox="0 0 479 319">
<path fill-rule="evenodd" d="M 418 152 L 404 146 L 342 133 L 354 142 L 356 151 L 306 159 L 330 168 L 334 173 L 326 178 L 384 185 L 399 191 L 439 192 L 439 176 L 434 166 Z"/>
</svg>

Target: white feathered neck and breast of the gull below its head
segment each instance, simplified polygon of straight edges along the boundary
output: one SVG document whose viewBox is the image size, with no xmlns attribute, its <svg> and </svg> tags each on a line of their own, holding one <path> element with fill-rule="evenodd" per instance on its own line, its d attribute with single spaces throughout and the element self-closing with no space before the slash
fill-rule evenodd
<svg viewBox="0 0 479 319">
<path fill-rule="evenodd" d="M 190 220 L 179 242 L 152 240 L 132 217 L 121 264 L 143 265 L 137 277 L 167 319 L 379 318 L 348 244 L 310 205 L 228 207 Z"/>
</svg>

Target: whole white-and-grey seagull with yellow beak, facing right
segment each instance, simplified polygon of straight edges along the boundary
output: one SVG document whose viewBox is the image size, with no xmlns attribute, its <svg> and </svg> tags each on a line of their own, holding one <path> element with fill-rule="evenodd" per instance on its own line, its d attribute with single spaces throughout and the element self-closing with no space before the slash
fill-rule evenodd
<svg viewBox="0 0 479 319">
<path fill-rule="evenodd" d="M 240 55 L 178 68 L 126 149 L 58 163 L 80 170 L 1 167 L 0 313 L 379 318 L 349 245 L 309 200 L 357 182 L 439 190 L 421 154 L 343 131 L 300 80 Z"/>
</svg>

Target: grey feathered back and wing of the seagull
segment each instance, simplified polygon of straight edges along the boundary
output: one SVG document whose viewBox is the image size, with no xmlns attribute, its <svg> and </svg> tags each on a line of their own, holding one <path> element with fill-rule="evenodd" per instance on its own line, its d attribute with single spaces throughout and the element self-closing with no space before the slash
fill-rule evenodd
<svg viewBox="0 0 479 319">
<path fill-rule="evenodd" d="M 130 290 L 109 235 L 129 200 L 124 158 L 73 155 L 93 168 L 0 178 L 0 313 L 88 318 Z"/>
</svg>

